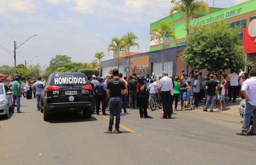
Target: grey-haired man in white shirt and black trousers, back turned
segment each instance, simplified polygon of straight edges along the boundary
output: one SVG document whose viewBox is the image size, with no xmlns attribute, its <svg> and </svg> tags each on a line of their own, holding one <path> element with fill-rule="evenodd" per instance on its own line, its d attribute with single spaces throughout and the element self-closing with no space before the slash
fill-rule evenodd
<svg viewBox="0 0 256 165">
<path fill-rule="evenodd" d="M 163 71 L 163 78 L 159 80 L 158 89 L 161 89 L 161 99 L 163 104 L 164 115 L 163 119 L 171 118 L 173 106 L 171 105 L 171 90 L 173 89 L 173 80 L 168 77 L 168 73 Z"/>
</svg>

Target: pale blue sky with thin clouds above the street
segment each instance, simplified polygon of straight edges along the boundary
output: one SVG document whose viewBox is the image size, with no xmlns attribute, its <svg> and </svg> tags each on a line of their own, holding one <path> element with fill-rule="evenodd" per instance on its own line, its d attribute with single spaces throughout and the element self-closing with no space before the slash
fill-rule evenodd
<svg viewBox="0 0 256 165">
<path fill-rule="evenodd" d="M 213 0 L 204 0 L 213 6 Z M 226 8 L 246 0 L 215 0 L 214 7 Z M 127 31 L 138 36 L 140 48 L 149 51 L 149 25 L 165 16 L 173 6 L 169 0 L 0 0 L 0 66 L 13 66 L 14 40 L 17 64 L 47 66 L 56 54 L 72 61 L 91 62 L 95 52 L 111 59 L 111 38 Z M 9 53 L 8 53 L 9 52 Z"/>
</svg>

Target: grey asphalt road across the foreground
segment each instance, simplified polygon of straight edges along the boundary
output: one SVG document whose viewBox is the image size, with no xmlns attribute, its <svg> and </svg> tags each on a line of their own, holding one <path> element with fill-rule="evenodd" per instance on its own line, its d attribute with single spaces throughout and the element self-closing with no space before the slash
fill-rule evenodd
<svg viewBox="0 0 256 165">
<path fill-rule="evenodd" d="M 108 120 L 81 113 L 36 111 L 36 99 L 21 99 L 21 111 L 0 119 L 0 165 L 255 165 L 256 136 L 238 136 L 238 115 L 161 110 L 141 119 L 138 110 L 121 116 L 123 134 L 104 134 Z M 125 129 L 124 129 L 125 128 Z M 130 131 L 130 132 L 129 132 Z M 133 132 L 134 133 L 131 133 Z"/>
</svg>

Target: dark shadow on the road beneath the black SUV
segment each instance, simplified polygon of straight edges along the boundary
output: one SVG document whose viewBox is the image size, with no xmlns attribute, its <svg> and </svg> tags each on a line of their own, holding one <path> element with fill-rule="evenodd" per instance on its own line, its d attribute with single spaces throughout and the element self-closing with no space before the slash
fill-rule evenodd
<svg viewBox="0 0 256 165">
<path fill-rule="evenodd" d="M 86 121 L 96 121 L 97 118 L 83 118 L 83 114 L 80 112 L 62 112 L 55 113 L 52 115 L 52 119 L 49 123 L 76 123 L 76 122 L 86 122 Z"/>
</svg>

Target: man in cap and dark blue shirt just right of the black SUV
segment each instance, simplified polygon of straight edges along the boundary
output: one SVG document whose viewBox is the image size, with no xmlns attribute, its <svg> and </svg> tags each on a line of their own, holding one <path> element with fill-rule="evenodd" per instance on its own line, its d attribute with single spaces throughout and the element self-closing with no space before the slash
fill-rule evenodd
<svg viewBox="0 0 256 165">
<path fill-rule="evenodd" d="M 106 101 L 106 85 L 103 83 L 104 78 L 99 78 L 99 83 L 94 86 L 95 100 L 96 100 L 96 113 L 100 115 L 100 101 L 102 102 L 102 115 L 107 115 L 105 112 L 105 101 Z"/>
</svg>

